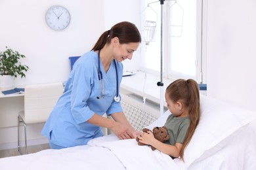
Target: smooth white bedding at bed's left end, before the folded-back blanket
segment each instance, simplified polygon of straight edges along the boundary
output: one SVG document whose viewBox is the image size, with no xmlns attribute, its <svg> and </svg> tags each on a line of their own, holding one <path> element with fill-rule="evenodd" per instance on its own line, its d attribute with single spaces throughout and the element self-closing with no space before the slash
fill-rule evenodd
<svg viewBox="0 0 256 170">
<path fill-rule="evenodd" d="M 0 169 L 124 169 L 107 148 L 75 146 L 0 159 Z"/>
</svg>

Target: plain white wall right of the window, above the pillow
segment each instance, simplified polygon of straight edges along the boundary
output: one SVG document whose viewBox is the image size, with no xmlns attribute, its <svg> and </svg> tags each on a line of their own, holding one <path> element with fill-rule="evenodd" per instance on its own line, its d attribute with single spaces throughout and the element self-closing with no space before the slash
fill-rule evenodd
<svg viewBox="0 0 256 170">
<path fill-rule="evenodd" d="M 256 1 L 207 3 L 207 95 L 256 110 Z"/>
</svg>

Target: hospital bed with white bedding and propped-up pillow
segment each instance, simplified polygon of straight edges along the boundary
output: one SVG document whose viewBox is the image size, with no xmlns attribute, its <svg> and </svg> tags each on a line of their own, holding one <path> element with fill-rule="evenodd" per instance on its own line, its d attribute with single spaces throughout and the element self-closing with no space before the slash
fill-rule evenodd
<svg viewBox="0 0 256 170">
<path fill-rule="evenodd" d="M 135 139 L 114 134 L 85 146 L 42 150 L 0 159 L 0 169 L 256 169 L 256 112 L 201 96 L 202 117 L 184 151 L 184 161 L 171 159 Z M 147 127 L 163 126 L 166 111 Z M 148 119 L 147 119 L 148 120 Z"/>
</svg>

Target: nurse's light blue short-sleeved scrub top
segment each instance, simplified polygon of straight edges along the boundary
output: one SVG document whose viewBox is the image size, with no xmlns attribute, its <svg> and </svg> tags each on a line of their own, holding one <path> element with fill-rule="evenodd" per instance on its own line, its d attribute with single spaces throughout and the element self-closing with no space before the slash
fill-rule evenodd
<svg viewBox="0 0 256 170">
<path fill-rule="evenodd" d="M 116 61 L 117 82 L 114 62 L 112 61 L 107 73 L 100 62 L 104 98 L 97 99 L 102 95 L 98 80 L 98 54 L 94 51 L 87 52 L 75 61 L 64 93 L 42 130 L 50 143 L 62 147 L 87 144 L 89 140 L 103 135 L 100 126 L 89 124 L 87 120 L 95 113 L 102 116 L 105 112 L 110 115 L 123 111 L 121 103 L 114 101 L 123 74 L 123 64 Z"/>
</svg>

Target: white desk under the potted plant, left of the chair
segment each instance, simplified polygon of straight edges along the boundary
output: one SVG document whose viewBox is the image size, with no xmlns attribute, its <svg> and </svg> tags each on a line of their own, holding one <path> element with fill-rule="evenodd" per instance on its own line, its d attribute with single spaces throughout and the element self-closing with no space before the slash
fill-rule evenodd
<svg viewBox="0 0 256 170">
<path fill-rule="evenodd" d="M 0 88 L 0 128 L 18 125 L 18 112 L 24 110 L 24 93 L 4 95 Z"/>
</svg>

